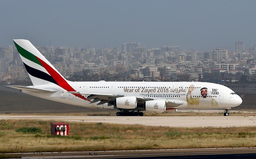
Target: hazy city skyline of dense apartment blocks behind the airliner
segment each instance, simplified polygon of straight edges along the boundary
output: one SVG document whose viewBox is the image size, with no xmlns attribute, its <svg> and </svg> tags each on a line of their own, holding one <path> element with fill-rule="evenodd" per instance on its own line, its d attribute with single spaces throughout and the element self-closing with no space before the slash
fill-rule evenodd
<svg viewBox="0 0 256 159">
<path fill-rule="evenodd" d="M 236 52 L 181 50 L 179 46 L 146 48 L 123 43 L 122 49 L 102 47 L 36 46 L 60 73 L 71 81 L 204 81 L 254 82 L 255 48 L 235 42 Z M 0 47 L 0 83 L 28 82 L 28 74 L 15 46 Z M 2 81 L 2 82 L 1 82 Z"/>
</svg>

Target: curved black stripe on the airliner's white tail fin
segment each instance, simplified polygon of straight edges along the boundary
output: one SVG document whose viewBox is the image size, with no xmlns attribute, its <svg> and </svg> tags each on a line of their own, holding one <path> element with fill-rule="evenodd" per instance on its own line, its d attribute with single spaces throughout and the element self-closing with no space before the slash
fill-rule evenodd
<svg viewBox="0 0 256 159">
<path fill-rule="evenodd" d="M 43 79 L 45 81 L 49 81 L 49 82 L 52 82 L 52 83 L 55 83 L 55 84 L 58 85 L 58 83 L 52 78 L 52 76 L 48 75 L 47 73 L 45 73 L 43 71 L 40 71 L 38 69 L 34 69 L 34 68 L 26 65 L 25 63 L 24 63 L 24 66 L 25 66 L 25 68 L 27 69 L 28 73 L 31 76 L 34 76 L 36 78 L 40 78 L 40 79 Z"/>
</svg>

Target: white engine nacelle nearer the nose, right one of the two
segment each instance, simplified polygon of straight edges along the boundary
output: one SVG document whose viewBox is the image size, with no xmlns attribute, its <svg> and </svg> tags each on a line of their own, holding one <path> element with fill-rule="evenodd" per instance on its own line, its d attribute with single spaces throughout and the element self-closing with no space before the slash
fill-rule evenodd
<svg viewBox="0 0 256 159">
<path fill-rule="evenodd" d="M 149 112 L 165 112 L 166 101 L 165 100 L 149 100 L 145 102 L 146 111 Z"/>
</svg>

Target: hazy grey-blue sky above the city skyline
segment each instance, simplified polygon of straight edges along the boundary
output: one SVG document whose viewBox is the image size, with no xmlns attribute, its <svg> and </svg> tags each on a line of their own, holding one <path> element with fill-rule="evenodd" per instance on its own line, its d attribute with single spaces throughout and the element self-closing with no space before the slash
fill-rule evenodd
<svg viewBox="0 0 256 159">
<path fill-rule="evenodd" d="M 256 1 L 106 0 L 0 1 L 0 46 L 28 39 L 37 46 L 234 50 L 242 40 L 256 44 Z"/>
</svg>

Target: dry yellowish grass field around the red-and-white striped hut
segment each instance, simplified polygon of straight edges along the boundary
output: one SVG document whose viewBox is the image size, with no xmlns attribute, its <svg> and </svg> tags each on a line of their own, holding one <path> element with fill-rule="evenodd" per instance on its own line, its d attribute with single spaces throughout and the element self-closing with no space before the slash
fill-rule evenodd
<svg viewBox="0 0 256 159">
<path fill-rule="evenodd" d="M 256 127 L 173 128 L 70 122 L 70 136 L 52 136 L 50 121 L 0 120 L 0 152 L 256 147 Z M 22 127 L 44 133 L 15 132 Z M 225 141 L 225 142 L 224 142 Z"/>
</svg>

